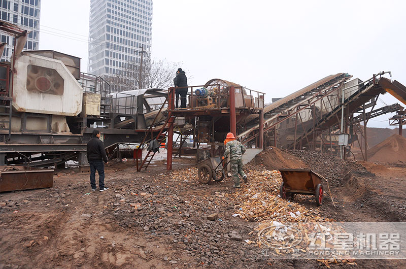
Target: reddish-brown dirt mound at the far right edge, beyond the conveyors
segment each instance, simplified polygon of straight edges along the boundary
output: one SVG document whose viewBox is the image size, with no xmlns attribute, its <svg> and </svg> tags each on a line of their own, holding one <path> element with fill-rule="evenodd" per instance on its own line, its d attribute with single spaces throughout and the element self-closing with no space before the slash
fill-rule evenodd
<svg viewBox="0 0 406 269">
<path fill-rule="evenodd" d="M 392 135 L 368 150 L 368 161 L 406 162 L 406 138 Z"/>
</svg>

